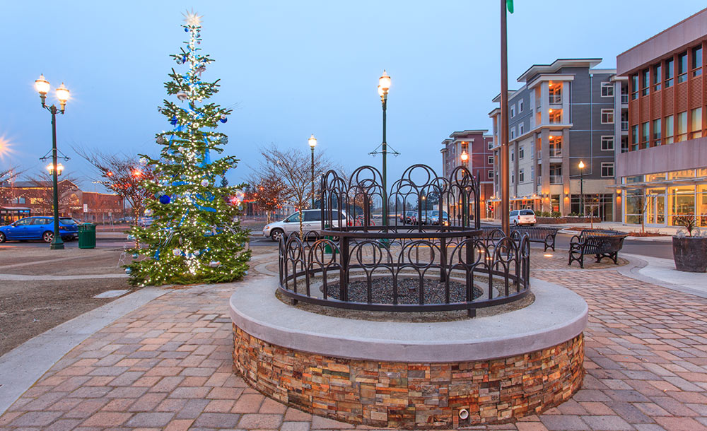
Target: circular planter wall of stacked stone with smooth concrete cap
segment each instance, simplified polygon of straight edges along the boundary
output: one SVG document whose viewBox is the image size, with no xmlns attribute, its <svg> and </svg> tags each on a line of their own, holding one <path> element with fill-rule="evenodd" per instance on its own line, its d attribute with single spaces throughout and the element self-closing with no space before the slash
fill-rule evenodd
<svg viewBox="0 0 707 431">
<path fill-rule="evenodd" d="M 535 301 L 435 323 L 327 317 L 276 299 L 276 278 L 230 298 L 235 369 L 263 394 L 375 427 L 457 427 L 536 414 L 579 389 L 586 302 L 532 281 Z"/>
</svg>

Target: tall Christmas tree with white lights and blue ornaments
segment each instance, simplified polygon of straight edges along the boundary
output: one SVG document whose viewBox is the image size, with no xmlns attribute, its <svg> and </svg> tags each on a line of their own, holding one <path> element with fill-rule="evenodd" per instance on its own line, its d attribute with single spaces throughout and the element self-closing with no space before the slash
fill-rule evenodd
<svg viewBox="0 0 707 431">
<path fill-rule="evenodd" d="M 136 245 L 125 271 L 136 285 L 233 281 L 245 275 L 250 260 L 248 232 L 238 221 L 243 194 L 218 184 L 238 159 L 211 159 L 228 143 L 216 127 L 228 121 L 230 110 L 205 103 L 218 92 L 218 81 L 202 81 L 213 60 L 199 48 L 201 17 L 193 12 L 185 16 L 182 27 L 188 40 L 170 57 L 187 70 L 172 69 L 171 81 L 165 83 L 170 100 L 159 108 L 171 130 L 156 135 L 162 146 L 158 159 L 140 159 L 155 177 L 144 182 L 153 196 L 145 215 L 153 223 L 133 228 L 129 236 Z"/>
</svg>

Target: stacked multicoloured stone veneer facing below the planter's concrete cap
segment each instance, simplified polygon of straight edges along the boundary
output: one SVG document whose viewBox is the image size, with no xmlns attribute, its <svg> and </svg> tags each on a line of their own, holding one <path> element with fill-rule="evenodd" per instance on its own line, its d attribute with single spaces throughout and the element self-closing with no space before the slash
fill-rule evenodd
<svg viewBox="0 0 707 431">
<path fill-rule="evenodd" d="M 303 411 L 375 427 L 508 422 L 566 401 L 584 374 L 582 334 L 509 358 L 407 363 L 332 358 L 233 332 L 233 362 L 248 384 Z"/>
</svg>

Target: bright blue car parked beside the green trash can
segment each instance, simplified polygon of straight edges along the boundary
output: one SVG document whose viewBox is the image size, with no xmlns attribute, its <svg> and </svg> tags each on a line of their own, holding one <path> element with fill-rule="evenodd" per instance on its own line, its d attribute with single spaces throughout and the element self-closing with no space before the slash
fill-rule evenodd
<svg viewBox="0 0 707 431">
<path fill-rule="evenodd" d="M 59 217 L 59 232 L 62 240 L 70 241 L 78 237 L 78 224 L 70 217 Z M 54 240 L 53 217 L 26 217 L 7 226 L 0 226 L 0 243 L 18 240 Z"/>
</svg>

